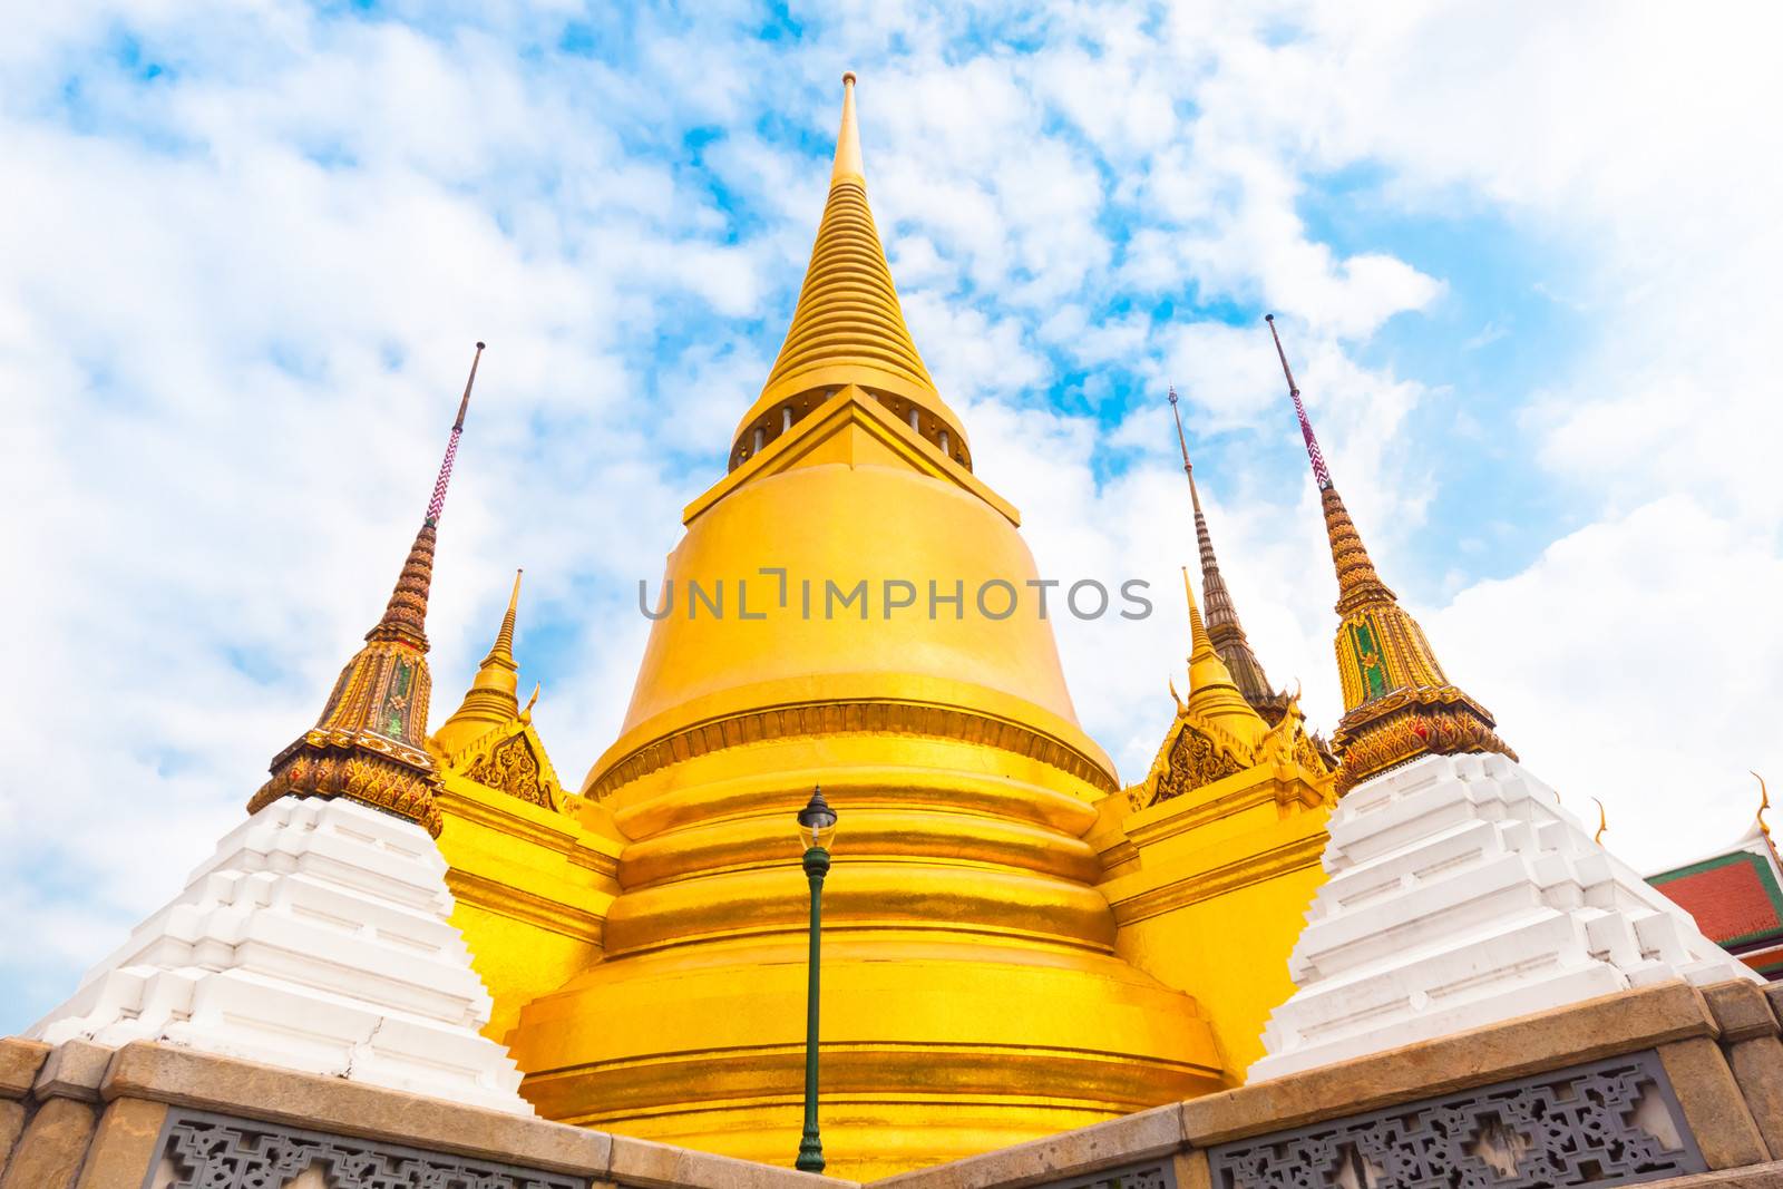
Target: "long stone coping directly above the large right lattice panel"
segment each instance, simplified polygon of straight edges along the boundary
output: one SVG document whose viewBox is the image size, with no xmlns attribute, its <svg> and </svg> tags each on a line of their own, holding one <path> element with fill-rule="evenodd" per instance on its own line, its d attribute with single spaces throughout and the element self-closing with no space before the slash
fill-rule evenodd
<svg viewBox="0 0 1783 1189">
<path fill-rule="evenodd" d="M 1701 1036 L 1719 1036 L 1703 996 L 1660 982 L 1191 1098 L 1182 1128 L 1205 1148 Z"/>
</svg>

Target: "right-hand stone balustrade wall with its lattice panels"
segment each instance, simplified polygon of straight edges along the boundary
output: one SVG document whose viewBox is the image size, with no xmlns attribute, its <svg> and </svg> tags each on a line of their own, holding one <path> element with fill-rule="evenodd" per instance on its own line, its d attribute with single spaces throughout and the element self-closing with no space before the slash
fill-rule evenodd
<svg viewBox="0 0 1783 1189">
<path fill-rule="evenodd" d="M 1624 991 L 874 1189 L 1783 1189 L 1776 1007 L 1746 982 Z"/>
</svg>

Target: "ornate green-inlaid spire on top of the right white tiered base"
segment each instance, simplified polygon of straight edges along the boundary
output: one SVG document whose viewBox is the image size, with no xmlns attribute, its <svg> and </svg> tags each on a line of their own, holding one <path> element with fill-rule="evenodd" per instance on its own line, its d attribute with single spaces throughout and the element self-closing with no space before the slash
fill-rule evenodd
<svg viewBox="0 0 1783 1189">
<path fill-rule="evenodd" d="M 1325 533 L 1337 570 L 1337 615 L 1343 622 L 1335 647 L 1344 704 L 1332 734 L 1332 747 L 1343 761 L 1337 795 L 1426 754 L 1501 752 L 1516 759 L 1517 754 L 1498 738 L 1492 715 L 1450 683 L 1425 629 L 1400 608 L 1398 597 L 1375 572 L 1312 435 L 1312 421 L 1287 365 L 1273 314 L 1268 323 L 1325 504 Z"/>
</svg>

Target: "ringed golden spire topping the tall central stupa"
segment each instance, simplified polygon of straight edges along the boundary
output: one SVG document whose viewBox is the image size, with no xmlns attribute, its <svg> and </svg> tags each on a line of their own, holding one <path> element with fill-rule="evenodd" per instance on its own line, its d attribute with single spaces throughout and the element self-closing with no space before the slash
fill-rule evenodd
<svg viewBox="0 0 1783 1189">
<path fill-rule="evenodd" d="M 842 77 L 842 130 L 829 173 L 829 200 L 792 328 L 761 398 L 736 428 L 731 465 L 740 465 L 829 392 L 856 383 L 899 421 L 966 460 L 959 417 L 941 401 L 904 324 L 892 269 L 867 205 L 861 132 L 854 118 L 854 73 Z M 788 415 L 790 414 L 790 415 Z"/>
</svg>

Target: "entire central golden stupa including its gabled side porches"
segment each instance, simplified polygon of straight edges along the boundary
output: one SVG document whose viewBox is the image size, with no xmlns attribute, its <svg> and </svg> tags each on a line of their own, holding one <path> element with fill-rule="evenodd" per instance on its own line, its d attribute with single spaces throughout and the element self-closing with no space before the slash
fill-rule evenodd
<svg viewBox="0 0 1783 1189">
<path fill-rule="evenodd" d="M 1243 1080 L 1291 991 L 1332 774 L 1293 699 L 1261 690 L 1266 720 L 1234 685 L 1193 592 L 1189 697 L 1130 788 L 1077 724 L 1050 622 L 949 601 L 1038 572 L 906 328 L 852 75 L 792 328 L 729 472 L 683 522 L 624 726 L 579 793 L 515 697 L 517 586 L 430 742 L 453 920 L 540 1114 L 792 1160 L 793 813 L 817 784 L 842 815 L 824 895 L 831 1173 Z"/>
</svg>

